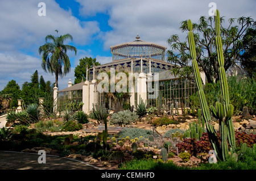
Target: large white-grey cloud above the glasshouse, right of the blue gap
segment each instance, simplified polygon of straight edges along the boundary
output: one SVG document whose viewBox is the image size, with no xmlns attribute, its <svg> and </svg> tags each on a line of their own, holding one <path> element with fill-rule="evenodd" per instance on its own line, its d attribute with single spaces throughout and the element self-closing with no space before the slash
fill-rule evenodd
<svg viewBox="0 0 256 181">
<path fill-rule="evenodd" d="M 130 1 L 102 1 L 102 0 L 77 0 L 80 2 L 80 14 L 93 16 L 97 13 L 109 15 L 109 26 L 112 31 L 101 33 L 99 36 L 104 40 L 104 48 L 111 45 L 135 40 L 137 33 L 142 40 L 152 41 L 167 45 L 166 41 L 172 34 L 178 34 L 185 39 L 185 33 L 179 30 L 180 22 L 191 19 L 197 23 L 200 16 L 209 16 L 208 7 L 212 1 L 205 0 L 130 0 Z M 253 0 L 245 1 L 214 1 L 221 16 L 238 18 L 251 16 L 256 18 Z"/>
</svg>

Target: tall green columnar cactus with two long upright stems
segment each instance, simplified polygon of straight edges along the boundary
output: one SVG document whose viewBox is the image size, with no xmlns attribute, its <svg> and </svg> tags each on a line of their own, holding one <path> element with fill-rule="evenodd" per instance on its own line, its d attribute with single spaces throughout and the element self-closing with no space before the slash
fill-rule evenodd
<svg viewBox="0 0 256 181">
<path fill-rule="evenodd" d="M 203 119 L 205 121 L 205 125 L 207 127 L 207 133 L 210 139 L 210 143 L 213 146 L 213 149 L 217 153 L 217 158 L 221 160 L 225 160 L 228 155 L 228 141 L 231 149 L 236 148 L 236 142 L 234 137 L 234 127 L 232 123 L 232 114 L 233 114 L 233 106 L 229 104 L 229 94 L 228 94 L 228 83 L 226 81 L 226 74 L 224 69 L 224 55 L 222 50 L 221 36 L 220 36 L 220 14 L 218 10 L 216 10 L 215 14 L 215 26 L 216 26 L 216 48 L 217 48 L 217 58 L 219 75 L 220 75 L 220 83 L 221 83 L 221 94 L 223 99 L 224 106 L 217 102 L 216 109 L 211 106 L 210 109 L 213 112 L 213 116 L 217 117 L 220 120 L 220 134 L 221 134 L 221 145 L 218 143 L 216 131 L 213 128 L 213 125 L 210 124 L 210 111 L 207 105 L 207 100 L 205 99 L 205 94 L 203 91 L 203 85 L 201 82 L 200 71 L 196 61 L 196 48 L 195 41 L 192 32 L 192 23 L 191 20 L 188 20 L 188 39 L 189 39 L 189 50 L 191 52 L 192 58 L 192 66 L 193 66 L 193 74 L 195 77 L 197 89 L 199 90 L 199 99 L 200 105 L 203 113 Z"/>
</svg>

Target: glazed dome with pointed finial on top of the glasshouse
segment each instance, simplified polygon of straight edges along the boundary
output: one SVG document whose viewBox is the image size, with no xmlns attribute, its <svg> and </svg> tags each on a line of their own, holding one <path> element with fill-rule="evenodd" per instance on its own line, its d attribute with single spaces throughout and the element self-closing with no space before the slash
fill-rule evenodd
<svg viewBox="0 0 256 181">
<path fill-rule="evenodd" d="M 164 61 L 164 53 L 167 47 L 143 41 L 140 39 L 139 35 L 137 35 L 136 39 L 135 41 L 110 47 L 113 61 L 141 57 Z"/>
</svg>

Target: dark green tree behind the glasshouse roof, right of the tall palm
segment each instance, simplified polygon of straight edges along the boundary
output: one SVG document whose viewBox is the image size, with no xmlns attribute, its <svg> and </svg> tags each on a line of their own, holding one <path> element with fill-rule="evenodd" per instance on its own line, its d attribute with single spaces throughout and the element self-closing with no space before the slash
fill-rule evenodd
<svg viewBox="0 0 256 181">
<path fill-rule="evenodd" d="M 93 67 L 93 64 L 95 66 L 101 65 L 96 61 L 96 58 L 92 57 L 85 57 L 79 60 L 79 65 L 77 65 L 75 68 L 75 84 L 80 83 L 82 79 L 86 80 L 86 66 L 88 66 L 89 69 Z"/>
</svg>

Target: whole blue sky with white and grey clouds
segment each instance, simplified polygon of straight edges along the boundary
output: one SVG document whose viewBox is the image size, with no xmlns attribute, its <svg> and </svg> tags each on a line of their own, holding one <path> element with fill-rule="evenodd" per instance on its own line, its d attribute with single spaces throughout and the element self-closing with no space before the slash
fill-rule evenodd
<svg viewBox="0 0 256 181">
<path fill-rule="evenodd" d="M 46 5 L 46 16 L 38 11 Z M 251 16 L 256 20 L 255 0 L 1 0 L 0 1 L 0 90 L 14 79 L 19 86 L 30 81 L 38 70 L 45 81 L 55 82 L 55 76 L 41 68 L 40 45 L 46 35 L 70 33 L 77 48 L 68 53 L 71 72 L 59 79 L 59 89 L 74 82 L 74 69 L 82 57 L 92 57 L 104 64 L 111 61 L 110 46 L 134 41 L 139 33 L 142 40 L 167 45 L 172 34 L 185 40 L 180 22 L 198 22 L 201 15 L 209 16 L 209 3 L 216 3 L 226 19 Z"/>
</svg>

